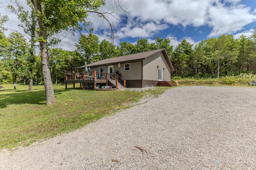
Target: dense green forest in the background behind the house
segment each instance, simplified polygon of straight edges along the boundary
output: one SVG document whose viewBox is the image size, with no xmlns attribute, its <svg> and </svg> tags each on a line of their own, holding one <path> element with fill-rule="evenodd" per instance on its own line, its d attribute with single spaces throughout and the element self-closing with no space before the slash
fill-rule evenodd
<svg viewBox="0 0 256 170">
<path fill-rule="evenodd" d="M 112 57 L 165 48 L 175 71 L 172 76 L 182 78 L 219 78 L 220 76 L 256 73 L 256 29 L 252 36 L 220 35 L 206 39 L 193 47 L 186 39 L 173 50 L 170 39 L 156 37 L 153 43 L 138 39 L 135 44 L 110 41 L 93 34 L 82 34 L 75 51 L 48 48 L 51 79 L 54 83 L 64 82 L 65 73 L 79 72 L 77 67 Z M 0 32 L 0 84 L 28 84 L 32 77 L 35 84 L 43 82 L 42 63 L 39 56 L 31 61 L 30 46 L 20 33 L 12 32 L 8 37 Z M 31 72 L 34 70 L 34 72 Z"/>
</svg>

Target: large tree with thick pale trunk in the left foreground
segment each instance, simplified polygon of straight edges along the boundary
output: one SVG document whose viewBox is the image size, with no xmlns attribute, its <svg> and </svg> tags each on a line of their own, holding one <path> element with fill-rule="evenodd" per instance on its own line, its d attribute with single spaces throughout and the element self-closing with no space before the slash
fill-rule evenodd
<svg viewBox="0 0 256 170">
<path fill-rule="evenodd" d="M 54 90 L 52 86 L 49 58 L 47 50 L 48 36 L 68 30 L 70 27 L 81 30 L 80 23 L 88 23 L 88 13 L 94 12 L 105 18 L 106 13 L 98 12 L 100 6 L 105 4 L 104 0 L 30 0 L 36 11 L 38 23 L 38 41 L 41 51 L 42 72 L 44 76 L 44 87 L 46 92 L 46 105 L 54 104 Z M 118 3 L 119 4 L 119 0 Z M 108 13 L 111 14 L 111 13 Z M 108 20 L 106 20 L 108 21 Z M 110 23 L 108 21 L 108 23 Z M 111 30 L 113 30 L 110 24 Z M 113 33 L 113 31 L 112 31 Z"/>
</svg>

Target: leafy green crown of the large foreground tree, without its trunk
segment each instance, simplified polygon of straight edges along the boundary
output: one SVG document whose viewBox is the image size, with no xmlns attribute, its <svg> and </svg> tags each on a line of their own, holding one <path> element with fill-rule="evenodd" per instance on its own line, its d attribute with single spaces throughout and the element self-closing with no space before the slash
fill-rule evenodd
<svg viewBox="0 0 256 170">
<path fill-rule="evenodd" d="M 82 29 L 79 23 L 87 23 L 89 10 L 97 11 L 102 0 L 31 0 L 37 7 L 37 17 L 49 33 L 59 33 L 70 27 Z"/>
</svg>

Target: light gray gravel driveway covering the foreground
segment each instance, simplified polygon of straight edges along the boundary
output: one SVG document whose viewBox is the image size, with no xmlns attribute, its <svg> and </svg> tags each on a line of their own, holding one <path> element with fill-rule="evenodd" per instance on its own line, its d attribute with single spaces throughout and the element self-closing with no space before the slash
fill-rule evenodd
<svg viewBox="0 0 256 170">
<path fill-rule="evenodd" d="M 170 88 L 77 131 L 2 150 L 0 169 L 255 170 L 256 88 Z"/>
</svg>

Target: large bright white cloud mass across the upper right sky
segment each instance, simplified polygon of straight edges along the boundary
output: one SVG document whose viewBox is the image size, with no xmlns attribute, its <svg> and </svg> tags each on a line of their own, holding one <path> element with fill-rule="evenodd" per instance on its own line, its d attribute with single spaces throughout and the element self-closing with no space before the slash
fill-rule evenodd
<svg viewBox="0 0 256 170">
<path fill-rule="evenodd" d="M 208 37 L 235 33 L 256 21 L 255 10 L 251 12 L 250 7 L 238 4 L 239 2 L 241 0 L 124 0 L 124 8 L 131 9 L 132 12 L 127 15 L 126 25 L 120 25 L 118 31 L 122 31 L 123 37 L 145 37 L 154 36 L 154 33 L 171 25 L 182 25 L 183 29 L 188 25 L 209 25 L 212 32 Z M 155 26 L 152 33 L 138 26 L 148 22 L 170 26 Z"/>
</svg>

